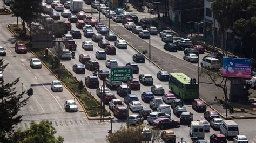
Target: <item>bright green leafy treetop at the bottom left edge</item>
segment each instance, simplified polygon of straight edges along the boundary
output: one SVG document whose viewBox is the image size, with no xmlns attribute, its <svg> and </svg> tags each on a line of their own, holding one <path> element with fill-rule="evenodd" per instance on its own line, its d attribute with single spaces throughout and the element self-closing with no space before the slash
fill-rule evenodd
<svg viewBox="0 0 256 143">
<path fill-rule="evenodd" d="M 64 142 L 62 136 L 55 138 L 54 134 L 57 131 L 52 126 L 52 122 L 48 120 L 42 120 L 39 124 L 35 121 L 31 121 L 30 128 L 21 132 L 18 130 L 15 132 L 16 142 Z"/>
</svg>

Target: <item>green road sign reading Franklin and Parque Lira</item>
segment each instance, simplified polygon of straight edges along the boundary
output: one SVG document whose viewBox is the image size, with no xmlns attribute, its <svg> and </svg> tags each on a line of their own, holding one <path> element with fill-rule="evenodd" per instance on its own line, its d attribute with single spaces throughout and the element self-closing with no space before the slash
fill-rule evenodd
<svg viewBox="0 0 256 143">
<path fill-rule="evenodd" d="M 114 67 L 110 69 L 110 81 L 131 81 L 132 69 L 127 67 Z"/>
</svg>

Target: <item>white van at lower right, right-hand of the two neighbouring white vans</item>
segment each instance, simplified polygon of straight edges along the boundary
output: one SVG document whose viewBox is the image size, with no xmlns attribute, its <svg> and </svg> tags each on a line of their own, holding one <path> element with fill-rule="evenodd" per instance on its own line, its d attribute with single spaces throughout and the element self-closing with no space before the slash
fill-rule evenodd
<svg viewBox="0 0 256 143">
<path fill-rule="evenodd" d="M 233 120 L 224 120 L 220 124 L 220 132 L 226 137 L 235 137 L 239 135 L 238 125 Z"/>
</svg>

